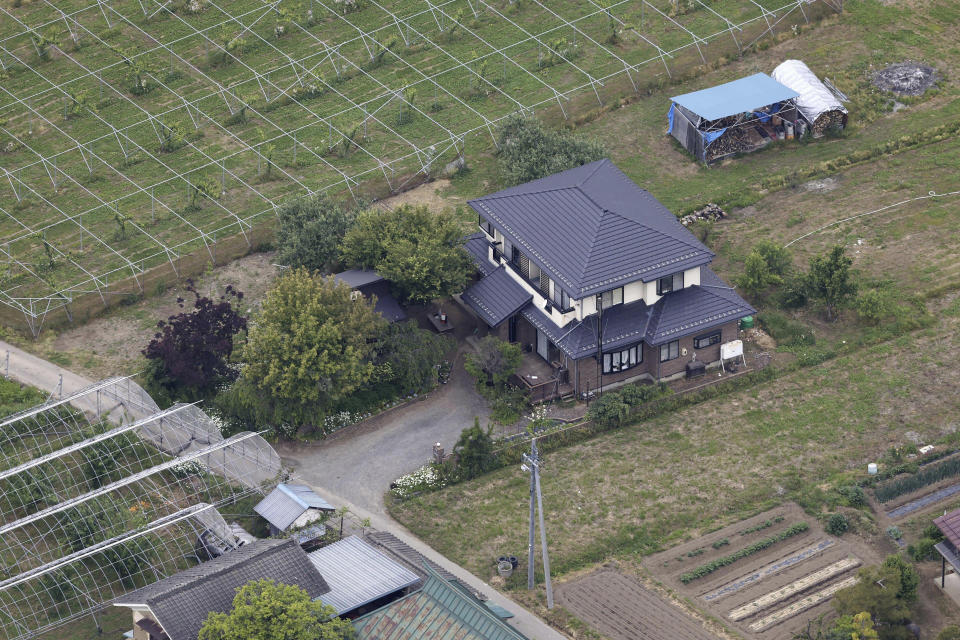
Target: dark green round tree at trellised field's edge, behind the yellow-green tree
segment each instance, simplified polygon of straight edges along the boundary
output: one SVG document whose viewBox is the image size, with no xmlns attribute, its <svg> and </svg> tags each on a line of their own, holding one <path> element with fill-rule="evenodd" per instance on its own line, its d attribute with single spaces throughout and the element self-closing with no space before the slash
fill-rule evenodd
<svg viewBox="0 0 960 640">
<path fill-rule="evenodd" d="M 327 272 L 340 265 L 340 242 L 357 212 L 317 193 L 285 202 L 278 218 L 277 260 L 291 267 Z"/>
</svg>

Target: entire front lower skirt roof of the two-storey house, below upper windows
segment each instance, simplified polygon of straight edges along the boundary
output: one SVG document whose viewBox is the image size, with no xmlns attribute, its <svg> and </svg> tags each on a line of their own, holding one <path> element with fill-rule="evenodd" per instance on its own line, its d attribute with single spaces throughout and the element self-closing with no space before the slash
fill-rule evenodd
<svg viewBox="0 0 960 640">
<path fill-rule="evenodd" d="M 659 345 L 756 313 L 709 267 L 700 268 L 700 284 L 662 296 L 652 306 L 642 300 L 603 311 L 603 350 L 612 351 L 643 340 Z M 521 314 L 574 360 L 597 353 L 596 314 L 558 327 L 529 304 Z"/>
</svg>

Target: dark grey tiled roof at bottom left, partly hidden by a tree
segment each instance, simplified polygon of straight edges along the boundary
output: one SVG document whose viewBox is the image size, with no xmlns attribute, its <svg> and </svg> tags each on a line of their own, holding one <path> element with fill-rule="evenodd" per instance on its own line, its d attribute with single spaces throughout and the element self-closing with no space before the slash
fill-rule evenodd
<svg viewBox="0 0 960 640">
<path fill-rule="evenodd" d="M 196 640 L 210 612 L 227 612 L 236 590 L 269 578 L 302 587 L 311 598 L 330 587 L 293 540 L 257 540 L 114 600 L 147 605 L 170 640 Z"/>
</svg>

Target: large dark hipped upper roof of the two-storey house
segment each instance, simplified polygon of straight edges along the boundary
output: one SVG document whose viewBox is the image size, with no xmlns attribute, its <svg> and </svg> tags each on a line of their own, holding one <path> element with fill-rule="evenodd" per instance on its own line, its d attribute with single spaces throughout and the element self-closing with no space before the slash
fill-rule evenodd
<svg viewBox="0 0 960 640">
<path fill-rule="evenodd" d="M 676 216 L 609 160 L 469 204 L 572 298 L 713 259 Z"/>
</svg>

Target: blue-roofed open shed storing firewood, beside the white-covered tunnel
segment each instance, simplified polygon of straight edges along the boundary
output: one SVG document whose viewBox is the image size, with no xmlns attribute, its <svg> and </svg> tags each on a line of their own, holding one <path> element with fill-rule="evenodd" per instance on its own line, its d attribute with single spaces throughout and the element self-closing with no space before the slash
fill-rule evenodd
<svg viewBox="0 0 960 640">
<path fill-rule="evenodd" d="M 706 163 L 755 151 L 794 137 L 797 96 L 765 73 L 685 93 L 671 98 L 668 133 Z"/>
</svg>

